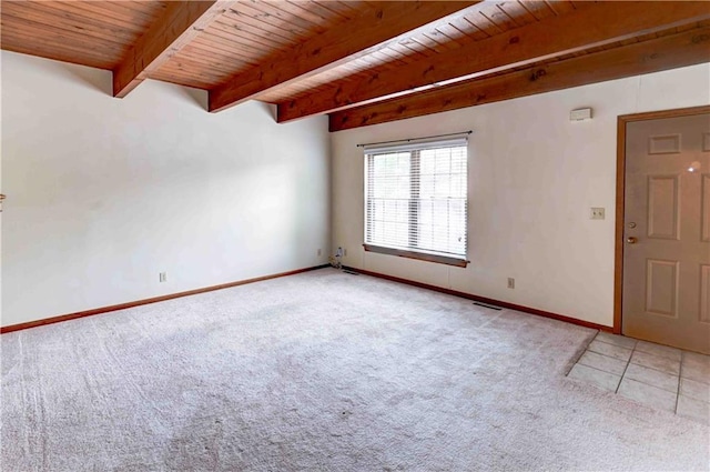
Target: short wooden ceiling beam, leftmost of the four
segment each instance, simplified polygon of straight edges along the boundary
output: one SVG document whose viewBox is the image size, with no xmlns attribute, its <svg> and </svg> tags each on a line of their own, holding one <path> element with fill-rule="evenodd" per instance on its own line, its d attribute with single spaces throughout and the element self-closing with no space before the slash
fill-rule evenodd
<svg viewBox="0 0 710 472">
<path fill-rule="evenodd" d="M 170 1 L 163 16 L 113 69 L 113 96 L 125 97 L 149 74 L 187 46 L 230 7 L 231 1 Z"/>
</svg>

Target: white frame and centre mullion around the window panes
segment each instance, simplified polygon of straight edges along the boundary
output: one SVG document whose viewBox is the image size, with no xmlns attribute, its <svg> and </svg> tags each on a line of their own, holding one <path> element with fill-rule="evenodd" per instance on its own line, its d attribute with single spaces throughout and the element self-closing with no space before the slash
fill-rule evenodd
<svg viewBox="0 0 710 472">
<path fill-rule="evenodd" d="M 383 254 L 398 255 L 412 259 L 418 259 L 429 262 L 444 263 L 448 265 L 456 267 L 466 267 L 468 264 L 467 253 L 468 253 L 468 149 L 467 149 L 467 139 L 465 137 L 458 138 L 449 138 L 449 139 L 428 139 L 428 140 L 408 140 L 406 142 L 396 142 L 396 143 L 383 143 L 383 144 L 366 144 L 364 145 L 364 177 L 365 177 L 365 192 L 364 192 L 364 243 L 363 247 L 366 251 L 377 252 Z M 410 171 L 416 172 L 416 179 L 420 179 L 422 165 L 419 162 L 416 162 L 415 159 L 418 160 L 422 157 L 422 151 L 433 150 L 433 149 L 442 149 L 442 148 L 465 148 L 465 159 L 464 159 L 464 172 L 458 172 L 457 175 L 460 178 L 460 174 L 464 174 L 464 201 L 463 201 L 463 230 L 464 230 L 464 241 L 463 241 L 463 252 L 459 250 L 457 252 L 448 252 L 446 250 L 426 250 L 417 247 L 417 242 L 413 241 L 412 238 L 418 238 L 418 228 L 416 231 L 408 230 L 407 243 L 399 244 L 384 244 L 382 241 L 374 241 L 371 235 L 373 231 L 371 230 L 371 219 L 373 214 L 371 213 L 371 189 L 368 183 L 369 178 L 369 162 L 371 158 L 376 158 L 382 154 L 394 154 L 394 153 L 410 153 Z M 413 174 L 409 174 L 412 178 Z M 452 171 L 449 171 L 448 175 L 454 175 Z M 418 187 L 410 187 L 408 190 L 409 200 L 408 200 L 408 220 L 407 224 L 409 228 L 412 227 L 412 221 L 417 221 L 419 217 L 419 207 L 416 204 L 422 200 L 418 199 L 418 195 L 415 194 L 418 190 Z M 450 195 L 449 195 L 450 198 Z M 375 200 L 372 198 L 372 200 Z M 456 200 L 460 203 L 460 195 L 456 198 Z M 460 217 L 457 220 L 459 223 L 459 228 L 462 224 Z M 416 224 L 416 223 L 415 223 Z M 443 248 L 439 248 L 443 249 Z"/>
</svg>

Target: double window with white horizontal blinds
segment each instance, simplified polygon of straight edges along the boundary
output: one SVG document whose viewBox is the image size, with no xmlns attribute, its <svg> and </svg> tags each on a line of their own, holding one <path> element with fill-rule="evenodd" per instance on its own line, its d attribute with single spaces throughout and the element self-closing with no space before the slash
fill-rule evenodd
<svg viewBox="0 0 710 472">
<path fill-rule="evenodd" d="M 365 250 L 466 265 L 467 141 L 365 147 Z"/>
</svg>

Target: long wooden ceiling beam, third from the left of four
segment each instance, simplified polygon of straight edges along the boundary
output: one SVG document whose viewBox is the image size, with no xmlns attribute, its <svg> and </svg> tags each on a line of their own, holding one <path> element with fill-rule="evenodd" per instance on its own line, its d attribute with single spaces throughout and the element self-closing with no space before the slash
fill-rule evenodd
<svg viewBox="0 0 710 472">
<path fill-rule="evenodd" d="M 368 80 L 343 81 L 278 104 L 278 122 L 460 82 L 710 18 L 707 2 L 601 2 L 473 42 Z"/>
</svg>

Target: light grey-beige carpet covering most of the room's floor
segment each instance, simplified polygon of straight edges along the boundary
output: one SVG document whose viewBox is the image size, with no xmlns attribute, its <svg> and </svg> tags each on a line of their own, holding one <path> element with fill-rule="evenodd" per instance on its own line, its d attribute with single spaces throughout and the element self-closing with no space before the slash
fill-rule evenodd
<svg viewBox="0 0 710 472">
<path fill-rule="evenodd" d="M 3 334 L 0 468 L 708 470 L 565 376 L 594 334 L 333 269 Z"/>
</svg>

